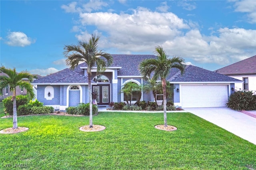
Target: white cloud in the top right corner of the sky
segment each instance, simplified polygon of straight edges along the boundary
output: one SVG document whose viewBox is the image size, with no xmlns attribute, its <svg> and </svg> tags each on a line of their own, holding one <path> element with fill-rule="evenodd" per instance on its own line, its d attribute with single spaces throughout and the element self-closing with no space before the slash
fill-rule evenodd
<svg viewBox="0 0 256 170">
<path fill-rule="evenodd" d="M 236 12 L 247 13 L 247 18 L 250 23 L 256 23 L 256 1 L 255 0 L 235 1 L 234 7 Z"/>
</svg>

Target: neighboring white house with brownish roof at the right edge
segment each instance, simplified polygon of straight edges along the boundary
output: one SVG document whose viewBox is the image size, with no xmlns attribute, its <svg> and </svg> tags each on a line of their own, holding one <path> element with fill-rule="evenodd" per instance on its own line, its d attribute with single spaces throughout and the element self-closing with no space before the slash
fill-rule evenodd
<svg viewBox="0 0 256 170">
<path fill-rule="evenodd" d="M 256 93 L 256 55 L 220 68 L 216 72 L 244 81 L 242 84 L 236 83 L 235 90 L 246 90 L 253 91 L 254 94 Z"/>
</svg>

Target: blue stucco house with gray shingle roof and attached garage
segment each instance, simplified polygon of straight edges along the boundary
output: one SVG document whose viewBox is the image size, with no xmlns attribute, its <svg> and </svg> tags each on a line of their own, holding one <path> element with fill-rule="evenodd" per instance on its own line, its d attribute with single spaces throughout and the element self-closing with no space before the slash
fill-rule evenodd
<svg viewBox="0 0 256 170">
<path fill-rule="evenodd" d="M 128 82 L 145 84 L 138 66 L 144 59 L 156 58 L 155 55 L 112 55 L 113 64 L 102 74 L 96 75 L 92 69 L 92 90 L 99 94 L 98 106 L 108 106 L 110 102 L 125 102 L 126 96 L 121 92 Z M 34 80 L 37 86 L 37 99 L 46 106 L 65 110 L 69 106 L 88 103 L 88 77 L 86 63 L 79 64 L 74 70 L 66 68 L 59 72 Z M 170 97 L 180 107 L 223 107 L 232 93 L 234 83 L 242 81 L 188 65 L 185 74 L 172 69 L 167 78 L 174 90 Z M 160 94 L 161 95 L 161 94 Z M 132 93 L 132 103 L 139 98 Z M 152 93 L 142 92 L 140 100 L 154 101 Z"/>
</svg>

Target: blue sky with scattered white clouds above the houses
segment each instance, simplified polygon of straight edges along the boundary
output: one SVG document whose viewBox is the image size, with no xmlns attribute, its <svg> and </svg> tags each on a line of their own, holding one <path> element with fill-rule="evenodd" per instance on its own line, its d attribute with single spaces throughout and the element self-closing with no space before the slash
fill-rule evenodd
<svg viewBox="0 0 256 170">
<path fill-rule="evenodd" d="M 47 75 L 64 45 L 100 36 L 110 54 L 170 56 L 216 70 L 256 55 L 256 1 L 0 1 L 0 64 Z"/>
</svg>

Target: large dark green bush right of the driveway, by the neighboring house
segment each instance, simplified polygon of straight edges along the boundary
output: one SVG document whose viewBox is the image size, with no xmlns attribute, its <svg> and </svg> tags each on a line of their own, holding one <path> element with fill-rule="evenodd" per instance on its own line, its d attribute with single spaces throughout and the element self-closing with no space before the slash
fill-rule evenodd
<svg viewBox="0 0 256 170">
<path fill-rule="evenodd" d="M 251 91 L 238 91 L 230 95 L 227 106 L 234 110 L 255 110 L 256 95 Z"/>
</svg>

